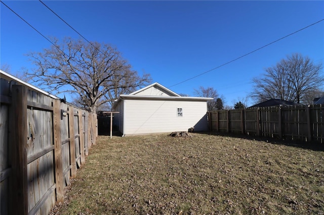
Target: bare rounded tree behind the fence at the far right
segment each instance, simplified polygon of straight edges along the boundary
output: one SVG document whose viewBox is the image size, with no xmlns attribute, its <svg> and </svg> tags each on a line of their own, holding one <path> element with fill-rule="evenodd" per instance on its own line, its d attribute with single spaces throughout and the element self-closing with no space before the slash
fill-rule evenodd
<svg viewBox="0 0 324 215">
<path fill-rule="evenodd" d="M 322 65 L 315 65 L 299 53 L 282 59 L 276 66 L 265 69 L 265 74 L 254 78 L 251 96 L 257 101 L 271 98 L 309 103 L 314 91 L 324 84 Z"/>
</svg>

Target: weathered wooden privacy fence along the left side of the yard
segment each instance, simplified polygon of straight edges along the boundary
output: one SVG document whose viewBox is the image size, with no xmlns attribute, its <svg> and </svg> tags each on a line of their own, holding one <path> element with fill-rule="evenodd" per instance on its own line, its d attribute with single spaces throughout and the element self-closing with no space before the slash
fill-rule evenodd
<svg viewBox="0 0 324 215">
<path fill-rule="evenodd" d="M 1 214 L 48 214 L 85 163 L 96 116 L 1 79 Z M 26 83 L 25 83 L 26 84 Z"/>
</svg>

